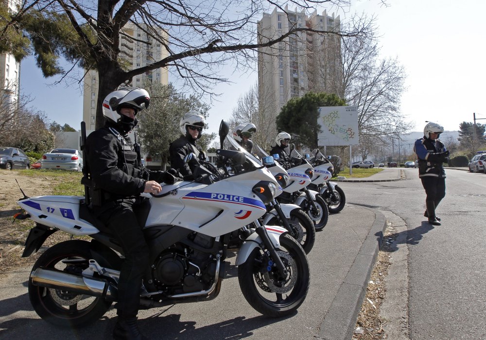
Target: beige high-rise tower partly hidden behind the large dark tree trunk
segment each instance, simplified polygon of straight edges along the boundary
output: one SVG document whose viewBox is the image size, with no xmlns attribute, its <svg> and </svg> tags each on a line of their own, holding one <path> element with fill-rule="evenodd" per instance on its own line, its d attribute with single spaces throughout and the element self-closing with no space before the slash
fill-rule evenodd
<svg viewBox="0 0 486 340">
<path fill-rule="evenodd" d="M 144 25 L 135 26 L 127 24 L 123 28 L 124 35 L 120 36 L 121 57 L 130 69 L 140 68 L 156 61 L 162 60 L 169 55 L 168 51 L 147 35 Z M 159 35 L 166 38 L 167 33 L 159 32 Z M 145 80 L 157 82 L 162 85 L 169 84 L 169 72 L 167 68 L 156 68 L 152 71 L 136 75 L 128 86 L 140 87 Z M 83 120 L 86 122 L 87 130 L 95 129 L 96 103 L 98 101 L 98 72 L 89 70 L 85 76 L 83 90 Z"/>
</svg>

